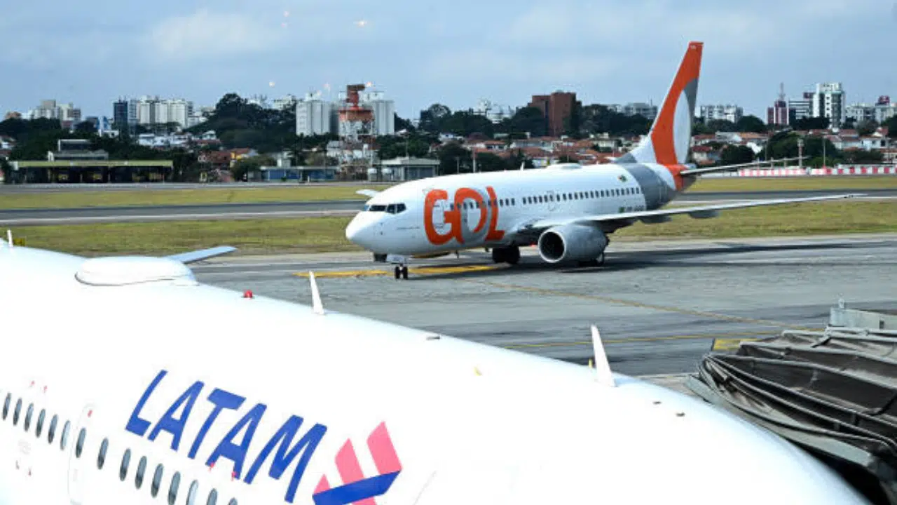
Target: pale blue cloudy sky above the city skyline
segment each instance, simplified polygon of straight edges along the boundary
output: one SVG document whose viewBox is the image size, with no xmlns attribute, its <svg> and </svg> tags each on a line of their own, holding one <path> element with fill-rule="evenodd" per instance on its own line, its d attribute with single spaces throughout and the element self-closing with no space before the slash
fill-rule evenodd
<svg viewBox="0 0 897 505">
<path fill-rule="evenodd" d="M 12 4 L 10 4 L 12 5 Z M 111 116 L 119 96 L 214 105 L 224 93 L 332 96 L 372 83 L 416 118 L 439 102 L 661 102 L 690 40 L 698 102 L 765 120 L 840 81 L 847 101 L 897 100 L 892 0 L 30 0 L 0 8 L 0 114 L 42 99 Z"/>
</svg>

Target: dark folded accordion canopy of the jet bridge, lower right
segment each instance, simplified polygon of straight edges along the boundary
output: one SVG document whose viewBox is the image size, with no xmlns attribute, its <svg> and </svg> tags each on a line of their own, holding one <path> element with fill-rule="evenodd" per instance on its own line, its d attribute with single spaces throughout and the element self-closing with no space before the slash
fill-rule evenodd
<svg viewBox="0 0 897 505">
<path fill-rule="evenodd" d="M 897 331 L 786 331 L 711 353 L 686 385 L 897 504 Z"/>
</svg>

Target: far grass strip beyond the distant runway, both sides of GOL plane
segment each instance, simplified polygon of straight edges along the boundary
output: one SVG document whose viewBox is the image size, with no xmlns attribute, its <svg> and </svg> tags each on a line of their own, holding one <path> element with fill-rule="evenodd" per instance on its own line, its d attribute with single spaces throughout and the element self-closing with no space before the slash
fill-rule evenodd
<svg viewBox="0 0 897 505">
<path fill-rule="evenodd" d="M 328 199 L 364 199 L 356 190 L 381 190 L 384 184 L 365 186 L 204 188 L 197 190 L 90 190 L 36 193 L 0 193 L 0 208 L 80 208 L 150 205 L 204 205 L 218 203 L 257 203 L 274 201 L 315 201 Z M 701 179 L 689 189 L 701 191 L 762 190 L 867 190 L 897 189 L 897 176 L 845 177 L 771 177 L 765 179 Z"/>
</svg>

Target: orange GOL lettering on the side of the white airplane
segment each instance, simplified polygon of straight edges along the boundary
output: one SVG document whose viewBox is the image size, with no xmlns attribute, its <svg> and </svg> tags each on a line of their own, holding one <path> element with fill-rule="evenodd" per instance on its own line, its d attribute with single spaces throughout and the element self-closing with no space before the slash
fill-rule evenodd
<svg viewBox="0 0 897 505">
<path fill-rule="evenodd" d="M 497 229 L 499 222 L 499 202 L 495 197 L 492 186 L 486 187 L 486 193 L 471 188 L 459 188 L 455 191 L 454 199 L 448 199 L 446 190 L 430 190 L 423 204 L 423 228 L 427 233 L 427 240 L 433 245 L 448 244 L 451 239 L 458 244 L 466 244 L 485 235 L 485 240 L 501 240 L 504 232 Z M 469 201 L 468 201 L 469 200 Z M 445 203 L 448 202 L 448 207 Z M 467 220 L 468 212 L 479 210 L 480 217 L 474 229 L 470 229 Z M 434 222 L 434 214 L 442 213 L 439 228 L 448 231 L 437 230 Z M 489 226 L 486 227 L 486 223 Z"/>
</svg>

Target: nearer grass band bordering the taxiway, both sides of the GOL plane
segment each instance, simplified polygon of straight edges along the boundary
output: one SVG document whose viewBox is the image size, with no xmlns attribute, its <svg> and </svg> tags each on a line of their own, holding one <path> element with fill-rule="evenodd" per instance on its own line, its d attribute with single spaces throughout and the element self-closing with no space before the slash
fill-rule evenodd
<svg viewBox="0 0 897 505">
<path fill-rule="evenodd" d="M 170 254 L 233 245 L 238 254 L 360 251 L 345 240 L 350 217 L 240 221 L 175 221 L 104 225 L 32 226 L 13 229 L 25 244 L 95 256 Z M 674 217 L 659 225 L 636 224 L 614 242 L 640 239 L 736 238 L 897 232 L 897 202 L 833 201 L 723 212 L 712 219 Z"/>
</svg>

